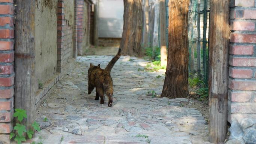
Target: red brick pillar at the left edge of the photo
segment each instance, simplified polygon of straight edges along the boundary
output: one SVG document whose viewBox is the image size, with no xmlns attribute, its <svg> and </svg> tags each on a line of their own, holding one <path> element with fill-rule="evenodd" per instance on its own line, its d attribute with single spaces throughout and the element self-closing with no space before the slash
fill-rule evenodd
<svg viewBox="0 0 256 144">
<path fill-rule="evenodd" d="M 13 129 L 13 0 L 0 0 L 0 144 L 9 144 Z"/>
</svg>

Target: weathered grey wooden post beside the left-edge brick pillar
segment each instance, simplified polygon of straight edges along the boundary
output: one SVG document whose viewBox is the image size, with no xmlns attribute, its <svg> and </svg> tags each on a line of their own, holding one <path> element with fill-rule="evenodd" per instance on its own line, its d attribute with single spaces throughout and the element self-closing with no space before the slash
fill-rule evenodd
<svg viewBox="0 0 256 144">
<path fill-rule="evenodd" d="M 27 111 L 24 125 L 31 125 L 36 112 L 35 1 L 16 0 L 15 108 Z"/>
</svg>

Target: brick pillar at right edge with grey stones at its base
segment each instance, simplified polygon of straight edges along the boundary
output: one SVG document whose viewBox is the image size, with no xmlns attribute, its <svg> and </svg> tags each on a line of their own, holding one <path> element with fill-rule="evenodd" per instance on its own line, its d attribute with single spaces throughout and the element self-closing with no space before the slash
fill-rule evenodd
<svg viewBox="0 0 256 144">
<path fill-rule="evenodd" d="M 231 0 L 228 120 L 231 140 L 256 143 L 256 0 Z"/>
</svg>

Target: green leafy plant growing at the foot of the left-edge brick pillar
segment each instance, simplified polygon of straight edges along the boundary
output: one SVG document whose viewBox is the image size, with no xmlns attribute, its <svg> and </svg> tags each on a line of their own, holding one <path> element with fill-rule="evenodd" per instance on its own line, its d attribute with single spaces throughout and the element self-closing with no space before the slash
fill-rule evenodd
<svg viewBox="0 0 256 144">
<path fill-rule="evenodd" d="M 27 111 L 23 109 L 16 108 L 15 112 L 13 113 L 13 117 L 16 117 L 18 119 L 18 122 L 13 128 L 13 132 L 10 133 L 10 139 L 14 138 L 15 141 L 17 141 L 18 144 L 21 144 L 22 141 L 26 141 L 25 137 L 27 136 L 29 139 L 33 137 L 34 130 L 40 131 L 39 124 L 34 122 L 31 126 L 33 129 L 26 129 L 25 125 L 22 125 L 21 122 L 24 120 L 24 118 L 27 118 Z"/>
</svg>

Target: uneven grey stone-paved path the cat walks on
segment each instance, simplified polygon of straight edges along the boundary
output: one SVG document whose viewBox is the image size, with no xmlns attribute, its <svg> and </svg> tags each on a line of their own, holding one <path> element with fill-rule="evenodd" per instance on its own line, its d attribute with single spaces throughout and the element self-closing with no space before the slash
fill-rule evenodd
<svg viewBox="0 0 256 144">
<path fill-rule="evenodd" d="M 138 71 L 148 61 L 121 56 L 112 69 L 113 106 L 87 94 L 88 66 L 105 68 L 112 56 L 78 57 L 76 66 L 58 83 L 37 110 L 42 131 L 35 141 L 42 144 L 210 144 L 208 125 L 194 108 L 180 105 L 185 98 L 147 96 L 161 94 L 164 71 Z M 161 76 L 157 78 L 156 76 Z M 48 122 L 44 122 L 45 117 Z"/>
</svg>

